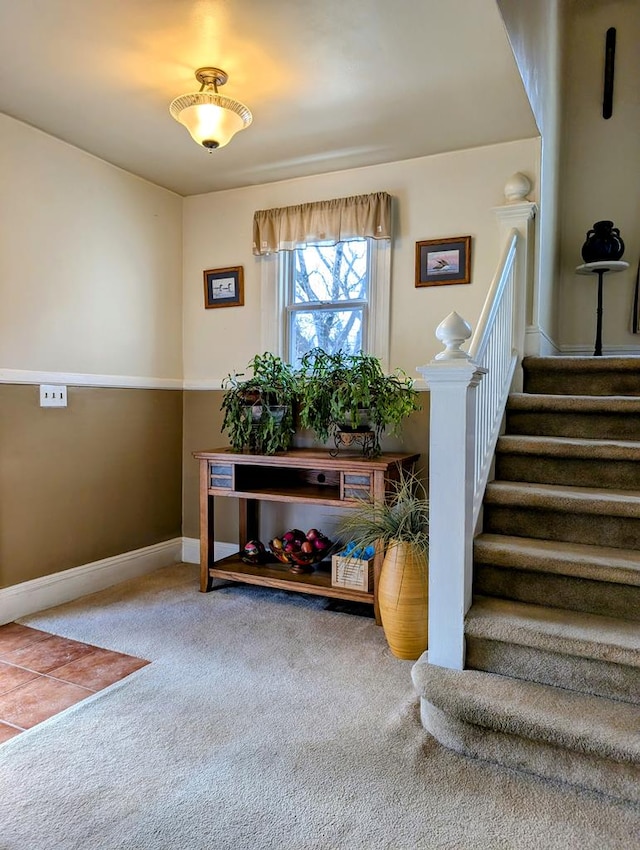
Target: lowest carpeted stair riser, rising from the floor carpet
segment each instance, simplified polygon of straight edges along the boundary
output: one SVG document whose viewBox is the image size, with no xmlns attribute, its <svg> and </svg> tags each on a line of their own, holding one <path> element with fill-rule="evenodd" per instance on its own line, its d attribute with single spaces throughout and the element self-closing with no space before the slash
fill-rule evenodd
<svg viewBox="0 0 640 850">
<path fill-rule="evenodd" d="M 640 765 L 598 758 L 546 741 L 512 735 L 459 720 L 420 699 L 424 728 L 443 746 L 471 758 L 525 770 L 546 779 L 590 788 L 598 794 L 640 803 Z"/>
</svg>

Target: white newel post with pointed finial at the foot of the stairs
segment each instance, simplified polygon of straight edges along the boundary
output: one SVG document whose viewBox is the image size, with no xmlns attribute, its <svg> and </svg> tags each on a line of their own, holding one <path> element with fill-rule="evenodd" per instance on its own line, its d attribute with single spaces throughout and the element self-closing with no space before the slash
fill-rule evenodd
<svg viewBox="0 0 640 850">
<path fill-rule="evenodd" d="M 429 663 L 462 670 L 473 578 L 475 389 L 486 369 L 460 346 L 471 328 L 457 313 L 438 326 L 445 350 L 419 366 L 430 390 Z"/>
</svg>

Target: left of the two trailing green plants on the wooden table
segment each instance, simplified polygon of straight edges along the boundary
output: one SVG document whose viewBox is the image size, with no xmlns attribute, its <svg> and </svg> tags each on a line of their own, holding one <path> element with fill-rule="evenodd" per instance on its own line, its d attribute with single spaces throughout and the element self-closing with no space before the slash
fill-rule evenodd
<svg viewBox="0 0 640 850">
<path fill-rule="evenodd" d="M 293 406 L 298 379 L 280 357 L 266 351 L 248 363 L 251 376 L 232 373 L 225 378 L 222 430 L 234 451 L 275 454 L 293 439 Z"/>
</svg>

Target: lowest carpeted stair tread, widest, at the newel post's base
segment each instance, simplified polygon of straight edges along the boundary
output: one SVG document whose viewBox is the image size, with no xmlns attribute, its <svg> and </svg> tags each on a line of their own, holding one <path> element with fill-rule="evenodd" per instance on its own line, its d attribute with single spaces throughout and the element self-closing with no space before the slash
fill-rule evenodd
<svg viewBox="0 0 640 850">
<path fill-rule="evenodd" d="M 418 693 L 486 729 L 640 765 L 640 709 L 630 703 L 477 670 L 413 666 Z"/>
</svg>

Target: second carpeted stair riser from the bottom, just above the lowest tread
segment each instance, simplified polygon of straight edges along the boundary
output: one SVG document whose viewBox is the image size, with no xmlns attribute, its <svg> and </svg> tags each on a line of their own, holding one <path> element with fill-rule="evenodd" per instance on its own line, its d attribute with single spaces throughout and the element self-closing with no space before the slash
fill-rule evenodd
<svg viewBox="0 0 640 850">
<path fill-rule="evenodd" d="M 465 666 L 640 704 L 640 669 L 621 664 L 468 636 Z"/>
</svg>

